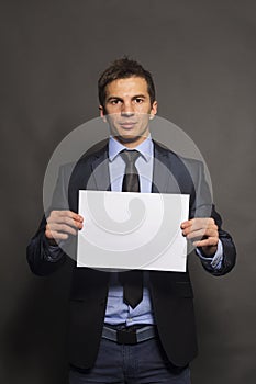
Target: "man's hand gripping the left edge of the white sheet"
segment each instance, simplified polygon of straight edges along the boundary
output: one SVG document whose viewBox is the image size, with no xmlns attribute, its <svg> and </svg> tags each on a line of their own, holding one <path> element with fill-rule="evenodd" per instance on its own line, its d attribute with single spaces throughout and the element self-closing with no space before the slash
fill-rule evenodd
<svg viewBox="0 0 256 384">
<path fill-rule="evenodd" d="M 45 228 L 45 236 L 49 244 L 67 240 L 69 235 L 76 236 L 82 228 L 84 218 L 71 211 L 52 211 Z"/>
</svg>

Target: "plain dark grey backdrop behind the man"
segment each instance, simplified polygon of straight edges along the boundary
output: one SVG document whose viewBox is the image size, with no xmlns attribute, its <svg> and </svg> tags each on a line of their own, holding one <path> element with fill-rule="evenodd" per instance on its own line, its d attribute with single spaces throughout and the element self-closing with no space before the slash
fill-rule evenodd
<svg viewBox="0 0 256 384">
<path fill-rule="evenodd" d="M 238 260 L 212 278 L 190 260 L 200 354 L 196 384 L 255 383 L 255 1 L 1 1 L 2 383 L 66 383 L 68 268 L 31 274 L 55 146 L 98 115 L 96 82 L 124 54 L 157 86 L 159 115 L 185 129 L 211 172 Z"/>
</svg>

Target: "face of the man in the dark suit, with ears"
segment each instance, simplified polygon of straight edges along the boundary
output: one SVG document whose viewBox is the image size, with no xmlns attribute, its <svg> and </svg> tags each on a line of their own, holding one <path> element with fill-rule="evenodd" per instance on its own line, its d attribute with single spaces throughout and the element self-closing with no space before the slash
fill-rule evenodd
<svg viewBox="0 0 256 384">
<path fill-rule="evenodd" d="M 100 105 L 111 134 L 129 148 L 140 145 L 148 136 L 148 121 L 157 112 L 157 102 L 151 103 L 147 82 L 130 77 L 110 82 L 105 88 L 105 105 Z"/>
</svg>

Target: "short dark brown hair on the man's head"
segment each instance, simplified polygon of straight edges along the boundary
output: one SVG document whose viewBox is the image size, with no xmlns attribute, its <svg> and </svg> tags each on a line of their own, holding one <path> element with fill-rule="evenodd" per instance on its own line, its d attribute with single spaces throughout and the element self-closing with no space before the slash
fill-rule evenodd
<svg viewBox="0 0 256 384">
<path fill-rule="evenodd" d="M 126 79 L 130 77 L 141 77 L 147 82 L 147 91 L 151 98 L 151 103 L 156 100 L 155 86 L 152 75 L 144 69 L 141 64 L 127 57 L 114 60 L 103 74 L 101 74 L 98 81 L 98 94 L 100 104 L 104 108 L 105 102 L 105 87 L 118 79 Z"/>
</svg>

